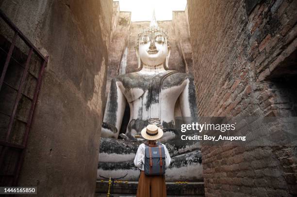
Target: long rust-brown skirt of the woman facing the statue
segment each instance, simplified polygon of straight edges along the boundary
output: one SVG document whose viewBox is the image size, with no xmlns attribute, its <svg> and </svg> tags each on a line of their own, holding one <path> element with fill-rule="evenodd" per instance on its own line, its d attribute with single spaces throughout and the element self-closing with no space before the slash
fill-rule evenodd
<svg viewBox="0 0 297 197">
<path fill-rule="evenodd" d="M 165 176 L 147 176 L 141 170 L 136 197 L 166 197 Z"/>
</svg>

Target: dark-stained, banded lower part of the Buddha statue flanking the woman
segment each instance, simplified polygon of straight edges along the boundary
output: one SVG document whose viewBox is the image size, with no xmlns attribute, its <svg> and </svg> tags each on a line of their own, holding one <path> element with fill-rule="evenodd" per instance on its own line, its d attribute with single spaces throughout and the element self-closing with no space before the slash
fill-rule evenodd
<svg viewBox="0 0 297 197">
<path fill-rule="evenodd" d="M 122 177 L 123 180 L 138 181 L 139 169 L 133 160 L 139 142 L 114 138 L 101 138 L 97 179 L 104 177 Z M 201 152 L 194 146 L 175 146 L 165 143 L 171 156 L 171 164 L 166 169 L 167 182 L 200 182 L 203 181 Z"/>
</svg>

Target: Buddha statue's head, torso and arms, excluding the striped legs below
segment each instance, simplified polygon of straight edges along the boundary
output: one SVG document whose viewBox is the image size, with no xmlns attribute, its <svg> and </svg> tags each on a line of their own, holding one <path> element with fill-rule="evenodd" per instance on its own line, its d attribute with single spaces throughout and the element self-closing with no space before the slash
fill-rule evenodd
<svg viewBox="0 0 297 197">
<path fill-rule="evenodd" d="M 139 71 L 112 79 L 101 136 L 118 138 L 128 103 L 128 138 L 139 140 L 134 136 L 139 135 L 148 124 L 156 124 L 164 131 L 161 141 L 174 139 L 178 135 L 175 130 L 175 106 L 180 108 L 178 116 L 197 115 L 193 77 L 169 70 L 169 38 L 165 30 L 158 27 L 154 14 L 150 26 L 138 34 L 135 51 Z"/>
</svg>

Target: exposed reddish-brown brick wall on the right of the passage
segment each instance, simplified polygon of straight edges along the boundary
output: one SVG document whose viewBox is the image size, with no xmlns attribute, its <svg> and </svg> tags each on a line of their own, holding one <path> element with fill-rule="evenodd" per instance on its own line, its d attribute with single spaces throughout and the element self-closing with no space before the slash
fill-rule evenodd
<svg viewBox="0 0 297 197">
<path fill-rule="evenodd" d="M 188 15 L 199 116 L 297 115 L 297 1 L 188 0 Z M 206 196 L 297 195 L 296 147 L 201 152 Z"/>
</svg>

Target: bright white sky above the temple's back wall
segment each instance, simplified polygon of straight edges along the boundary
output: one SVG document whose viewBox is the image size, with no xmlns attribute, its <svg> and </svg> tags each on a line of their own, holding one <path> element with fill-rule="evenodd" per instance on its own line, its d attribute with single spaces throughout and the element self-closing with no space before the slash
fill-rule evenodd
<svg viewBox="0 0 297 197">
<path fill-rule="evenodd" d="M 132 21 L 150 21 L 153 9 L 157 20 L 172 20 L 172 11 L 184 11 L 187 0 L 114 0 L 120 11 L 132 12 Z"/>
</svg>

